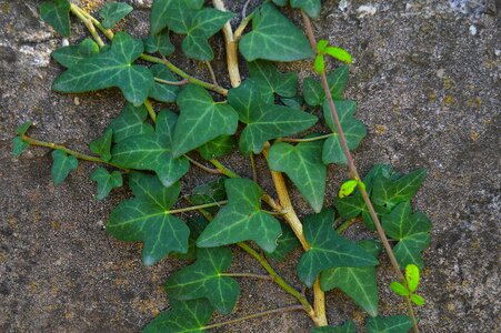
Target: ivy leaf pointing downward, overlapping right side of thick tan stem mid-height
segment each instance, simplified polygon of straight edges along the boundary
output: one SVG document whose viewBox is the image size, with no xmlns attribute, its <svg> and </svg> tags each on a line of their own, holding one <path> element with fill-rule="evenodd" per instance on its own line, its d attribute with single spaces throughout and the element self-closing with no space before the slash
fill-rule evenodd
<svg viewBox="0 0 501 333">
<path fill-rule="evenodd" d="M 322 143 L 301 142 L 294 147 L 277 142 L 268 155 L 270 169 L 285 172 L 317 213 L 322 210 L 325 195 L 327 167 L 321 159 Z"/>
</svg>

